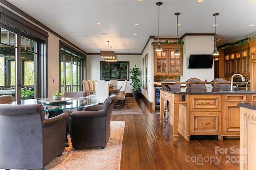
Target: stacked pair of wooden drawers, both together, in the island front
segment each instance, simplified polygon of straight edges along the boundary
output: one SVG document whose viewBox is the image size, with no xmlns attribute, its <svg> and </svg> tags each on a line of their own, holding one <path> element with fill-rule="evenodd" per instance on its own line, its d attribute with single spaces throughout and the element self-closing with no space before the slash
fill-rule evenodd
<svg viewBox="0 0 256 170">
<path fill-rule="evenodd" d="M 190 135 L 221 134 L 221 95 L 190 95 Z"/>
</svg>

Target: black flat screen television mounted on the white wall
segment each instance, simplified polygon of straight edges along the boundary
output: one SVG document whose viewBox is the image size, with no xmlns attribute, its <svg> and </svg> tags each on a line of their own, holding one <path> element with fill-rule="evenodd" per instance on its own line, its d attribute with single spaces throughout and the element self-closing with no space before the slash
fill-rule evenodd
<svg viewBox="0 0 256 170">
<path fill-rule="evenodd" d="M 213 58 L 211 54 L 190 54 L 188 68 L 212 68 Z"/>
</svg>

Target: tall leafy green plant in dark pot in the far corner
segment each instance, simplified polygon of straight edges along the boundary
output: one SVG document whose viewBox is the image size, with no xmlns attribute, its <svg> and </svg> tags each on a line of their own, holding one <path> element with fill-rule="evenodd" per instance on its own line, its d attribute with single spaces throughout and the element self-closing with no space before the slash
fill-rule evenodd
<svg viewBox="0 0 256 170">
<path fill-rule="evenodd" d="M 130 79 L 132 80 L 130 83 L 130 85 L 132 85 L 132 95 L 137 97 L 140 95 L 140 88 L 142 86 L 142 83 L 138 78 L 140 76 L 140 68 L 136 67 L 135 64 L 135 66 L 130 69 L 130 73 L 132 74 L 132 76 L 130 76 Z"/>
</svg>

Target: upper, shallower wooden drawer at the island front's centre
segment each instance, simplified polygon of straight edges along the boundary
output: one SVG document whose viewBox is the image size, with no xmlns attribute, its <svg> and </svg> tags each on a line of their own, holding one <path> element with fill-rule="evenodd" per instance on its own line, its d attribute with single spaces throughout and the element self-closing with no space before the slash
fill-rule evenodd
<svg viewBox="0 0 256 170">
<path fill-rule="evenodd" d="M 190 95 L 190 111 L 221 111 L 220 95 Z"/>
</svg>

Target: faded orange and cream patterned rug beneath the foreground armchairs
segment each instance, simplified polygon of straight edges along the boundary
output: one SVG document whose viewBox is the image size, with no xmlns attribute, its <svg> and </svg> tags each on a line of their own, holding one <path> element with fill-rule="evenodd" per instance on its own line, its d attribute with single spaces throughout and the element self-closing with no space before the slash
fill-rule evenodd
<svg viewBox="0 0 256 170">
<path fill-rule="evenodd" d="M 111 121 L 111 135 L 105 149 L 75 150 L 69 138 L 69 147 L 45 170 L 120 170 L 123 135 L 124 121 Z"/>
</svg>

